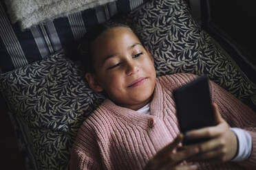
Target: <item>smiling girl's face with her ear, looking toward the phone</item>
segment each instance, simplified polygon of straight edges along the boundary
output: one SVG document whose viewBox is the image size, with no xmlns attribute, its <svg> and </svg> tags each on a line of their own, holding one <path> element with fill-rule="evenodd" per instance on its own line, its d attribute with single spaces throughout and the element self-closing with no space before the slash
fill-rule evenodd
<svg viewBox="0 0 256 170">
<path fill-rule="evenodd" d="M 127 27 L 114 27 L 92 43 L 95 74 L 85 77 L 89 86 L 105 90 L 119 106 L 138 110 L 145 106 L 156 85 L 153 58 Z"/>
</svg>

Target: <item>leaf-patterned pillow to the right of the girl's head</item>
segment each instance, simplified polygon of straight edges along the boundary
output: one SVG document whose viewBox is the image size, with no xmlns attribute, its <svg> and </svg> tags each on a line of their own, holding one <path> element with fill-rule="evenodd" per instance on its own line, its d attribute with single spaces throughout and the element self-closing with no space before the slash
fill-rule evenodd
<svg viewBox="0 0 256 170">
<path fill-rule="evenodd" d="M 187 1 L 150 1 L 129 14 L 149 47 L 157 75 L 208 74 L 210 79 L 256 110 L 256 86 L 231 56 L 191 17 Z M 254 73 L 255 75 L 256 73 Z"/>
</svg>

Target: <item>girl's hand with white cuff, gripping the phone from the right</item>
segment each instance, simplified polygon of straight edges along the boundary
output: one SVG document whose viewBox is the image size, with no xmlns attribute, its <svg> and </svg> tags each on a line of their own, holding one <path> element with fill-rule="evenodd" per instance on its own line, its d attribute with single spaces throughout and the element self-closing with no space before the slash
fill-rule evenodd
<svg viewBox="0 0 256 170">
<path fill-rule="evenodd" d="M 186 134 L 188 138 L 211 138 L 204 143 L 183 147 L 183 149 L 186 149 L 186 147 L 198 147 L 200 150 L 198 156 L 194 156 L 190 160 L 226 162 L 231 160 L 237 152 L 237 136 L 222 118 L 217 104 L 213 104 L 213 112 L 217 121 L 216 126 L 192 130 Z"/>
</svg>

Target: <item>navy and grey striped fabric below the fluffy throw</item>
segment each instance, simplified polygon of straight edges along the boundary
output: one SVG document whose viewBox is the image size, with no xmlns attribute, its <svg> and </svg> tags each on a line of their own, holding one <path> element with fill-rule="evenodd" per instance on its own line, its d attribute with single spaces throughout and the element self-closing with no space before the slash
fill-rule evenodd
<svg viewBox="0 0 256 170">
<path fill-rule="evenodd" d="M 76 60 L 74 51 L 77 40 L 83 37 L 87 29 L 107 21 L 118 12 L 130 12 L 147 1 L 118 0 L 24 31 L 21 31 L 18 23 L 11 24 L 6 5 L 0 1 L 0 71 L 12 71 L 61 49 L 70 51 L 70 58 Z"/>
</svg>

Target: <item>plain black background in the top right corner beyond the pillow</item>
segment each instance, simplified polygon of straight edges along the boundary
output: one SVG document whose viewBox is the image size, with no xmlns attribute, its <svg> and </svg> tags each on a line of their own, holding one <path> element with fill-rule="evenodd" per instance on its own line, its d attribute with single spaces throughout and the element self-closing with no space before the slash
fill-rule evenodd
<svg viewBox="0 0 256 170">
<path fill-rule="evenodd" d="M 256 1 L 209 0 L 209 5 L 211 22 L 237 42 L 256 66 Z"/>
</svg>

